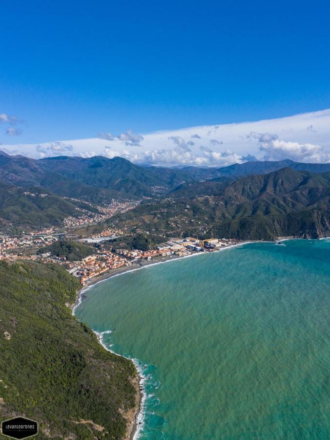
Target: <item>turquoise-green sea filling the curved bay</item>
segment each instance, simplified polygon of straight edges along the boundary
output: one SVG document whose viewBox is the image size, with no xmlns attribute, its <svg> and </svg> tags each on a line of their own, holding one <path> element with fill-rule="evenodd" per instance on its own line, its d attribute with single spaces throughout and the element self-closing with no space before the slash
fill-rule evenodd
<svg viewBox="0 0 330 440">
<path fill-rule="evenodd" d="M 330 439 L 329 239 L 128 272 L 76 315 L 142 363 L 141 439 Z"/>
</svg>

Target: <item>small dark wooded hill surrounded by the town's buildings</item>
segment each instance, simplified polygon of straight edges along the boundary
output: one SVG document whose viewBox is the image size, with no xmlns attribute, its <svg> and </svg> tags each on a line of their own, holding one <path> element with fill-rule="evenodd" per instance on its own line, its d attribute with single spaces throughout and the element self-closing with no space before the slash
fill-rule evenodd
<svg viewBox="0 0 330 440">
<path fill-rule="evenodd" d="M 60 240 L 50 244 L 49 246 L 41 247 L 38 250 L 39 254 L 43 254 L 45 252 L 50 252 L 55 257 L 65 257 L 67 261 L 78 261 L 87 257 L 87 255 L 95 254 L 96 249 L 92 246 L 71 240 Z"/>
</svg>

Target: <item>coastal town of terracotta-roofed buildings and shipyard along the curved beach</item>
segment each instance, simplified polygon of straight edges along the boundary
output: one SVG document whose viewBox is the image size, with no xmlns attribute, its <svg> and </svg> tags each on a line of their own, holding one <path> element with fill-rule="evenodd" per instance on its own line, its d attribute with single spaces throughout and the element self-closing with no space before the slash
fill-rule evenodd
<svg viewBox="0 0 330 440">
<path fill-rule="evenodd" d="M 71 236 L 55 233 L 52 229 L 41 232 L 22 236 L 1 235 L 0 260 L 15 262 L 23 259 L 61 264 L 70 274 L 79 279 L 82 286 L 107 272 L 128 269 L 129 266 L 135 267 L 138 264 L 157 261 L 157 259 L 164 260 L 199 252 L 212 252 L 238 243 L 225 238 L 221 240 L 198 240 L 193 237 L 171 238 L 154 248 L 142 250 L 113 247 L 112 243 L 115 239 L 125 237 L 124 232 L 117 229 L 106 228 L 99 234 L 82 238 L 75 237 L 75 241 L 68 241 L 67 238 Z M 64 244 L 65 246 L 62 246 Z M 67 253 L 59 251 L 63 247 L 69 249 Z M 74 248 L 74 251 L 71 248 Z"/>
</svg>

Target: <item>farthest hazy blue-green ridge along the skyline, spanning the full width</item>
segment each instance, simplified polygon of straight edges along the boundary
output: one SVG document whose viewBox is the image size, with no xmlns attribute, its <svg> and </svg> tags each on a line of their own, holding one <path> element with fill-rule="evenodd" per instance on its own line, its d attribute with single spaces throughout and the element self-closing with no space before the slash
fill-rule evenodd
<svg viewBox="0 0 330 440">
<path fill-rule="evenodd" d="M 86 200 L 162 196 L 181 184 L 251 174 L 267 174 L 284 167 L 310 172 L 330 171 L 330 164 L 255 161 L 224 168 L 139 166 L 122 157 L 108 159 L 57 156 L 30 159 L 0 152 L 0 180 L 21 187 L 41 186 L 59 196 Z M 98 191 L 100 190 L 100 191 Z"/>
</svg>

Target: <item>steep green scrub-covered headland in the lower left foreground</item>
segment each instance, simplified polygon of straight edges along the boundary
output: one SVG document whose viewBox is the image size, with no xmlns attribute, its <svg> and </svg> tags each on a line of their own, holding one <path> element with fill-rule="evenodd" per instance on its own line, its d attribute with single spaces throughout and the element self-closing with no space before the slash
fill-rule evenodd
<svg viewBox="0 0 330 440">
<path fill-rule="evenodd" d="M 59 265 L 0 262 L 0 418 L 39 421 L 39 439 L 121 439 L 136 371 L 71 316 L 78 287 Z"/>
</svg>

